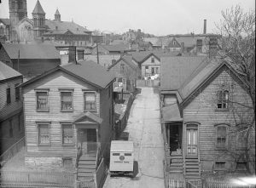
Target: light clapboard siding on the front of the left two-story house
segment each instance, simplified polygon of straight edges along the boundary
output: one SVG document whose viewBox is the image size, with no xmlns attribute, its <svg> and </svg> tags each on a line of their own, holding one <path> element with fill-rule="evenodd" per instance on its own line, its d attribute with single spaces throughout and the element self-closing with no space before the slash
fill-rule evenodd
<svg viewBox="0 0 256 188">
<path fill-rule="evenodd" d="M 36 90 L 49 89 L 49 111 L 36 110 Z M 61 93 L 59 89 L 73 89 L 73 111 L 61 112 Z M 79 81 L 62 71 L 57 71 L 24 88 L 24 108 L 26 117 L 26 145 L 28 154 L 42 153 L 43 156 L 73 156 L 76 146 L 62 145 L 61 122 L 73 122 L 84 112 L 84 89 L 96 92 L 96 114 L 100 115 L 100 92 L 88 83 Z M 38 127 L 36 122 L 50 122 L 50 145 L 38 146 Z M 77 130 L 73 128 L 74 142 Z"/>
</svg>

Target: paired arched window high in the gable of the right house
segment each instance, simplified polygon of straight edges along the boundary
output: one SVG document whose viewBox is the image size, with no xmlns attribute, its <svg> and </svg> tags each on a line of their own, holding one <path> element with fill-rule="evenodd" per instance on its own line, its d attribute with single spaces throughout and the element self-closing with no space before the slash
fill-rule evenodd
<svg viewBox="0 0 256 188">
<path fill-rule="evenodd" d="M 221 100 L 219 100 L 220 94 L 221 94 L 221 97 L 223 98 Z M 227 100 L 225 99 L 226 94 L 228 94 Z M 230 91 L 228 89 L 218 90 L 216 101 L 217 101 L 217 105 L 216 105 L 216 110 L 217 111 L 229 111 L 229 108 L 230 108 Z M 221 107 L 218 107 L 218 105 L 221 105 Z M 226 107 L 224 107 L 224 105 Z"/>
</svg>

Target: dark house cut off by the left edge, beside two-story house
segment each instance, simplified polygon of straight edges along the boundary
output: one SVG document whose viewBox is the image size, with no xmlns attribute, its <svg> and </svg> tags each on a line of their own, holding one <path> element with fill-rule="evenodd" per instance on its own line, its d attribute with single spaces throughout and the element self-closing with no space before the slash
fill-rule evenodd
<svg viewBox="0 0 256 188">
<path fill-rule="evenodd" d="M 20 72 L 0 61 L 0 153 L 24 137 Z"/>
</svg>

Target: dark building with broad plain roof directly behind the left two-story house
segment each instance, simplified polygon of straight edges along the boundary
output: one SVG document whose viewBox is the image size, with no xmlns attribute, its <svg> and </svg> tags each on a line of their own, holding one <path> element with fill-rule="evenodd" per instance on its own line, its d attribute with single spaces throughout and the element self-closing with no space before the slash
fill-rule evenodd
<svg viewBox="0 0 256 188">
<path fill-rule="evenodd" d="M 9 56 L 13 68 L 24 77 L 35 77 L 61 64 L 61 56 L 53 45 L 3 43 L 0 59 Z"/>
</svg>

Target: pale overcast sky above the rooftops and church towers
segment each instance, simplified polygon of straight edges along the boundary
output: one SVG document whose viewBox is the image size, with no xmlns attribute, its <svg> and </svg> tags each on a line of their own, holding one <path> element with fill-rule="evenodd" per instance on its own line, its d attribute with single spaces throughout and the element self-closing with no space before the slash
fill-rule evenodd
<svg viewBox="0 0 256 188">
<path fill-rule="evenodd" d="M 0 4 L 0 18 L 9 18 L 9 0 Z M 37 0 L 26 0 L 27 15 Z M 86 26 L 90 31 L 123 33 L 141 29 L 157 36 L 202 33 L 203 20 L 207 32 L 214 31 L 214 23 L 221 19 L 221 10 L 240 4 L 245 10 L 255 11 L 255 0 L 40 0 L 46 18 L 53 20 L 55 10 L 61 20 Z"/>
</svg>

